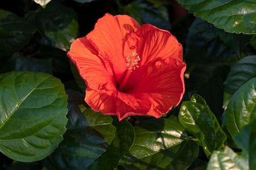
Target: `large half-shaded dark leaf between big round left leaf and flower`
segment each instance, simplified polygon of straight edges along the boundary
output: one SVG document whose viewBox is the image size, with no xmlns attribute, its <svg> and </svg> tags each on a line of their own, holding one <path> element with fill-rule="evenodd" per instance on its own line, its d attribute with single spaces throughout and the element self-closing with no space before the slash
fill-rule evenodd
<svg viewBox="0 0 256 170">
<path fill-rule="evenodd" d="M 44 160 L 48 169 L 86 169 L 106 151 L 115 137 L 111 116 L 81 105 L 84 104 L 83 94 L 68 94 L 67 132 L 59 147 Z"/>
</svg>

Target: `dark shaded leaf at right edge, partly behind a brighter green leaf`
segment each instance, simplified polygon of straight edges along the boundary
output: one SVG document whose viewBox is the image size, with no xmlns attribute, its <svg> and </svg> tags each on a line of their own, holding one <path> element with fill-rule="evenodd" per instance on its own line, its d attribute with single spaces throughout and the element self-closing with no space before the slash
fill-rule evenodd
<svg viewBox="0 0 256 170">
<path fill-rule="evenodd" d="M 229 99 L 243 84 L 256 77 L 256 56 L 248 56 L 234 64 L 224 82 L 223 108 L 226 109 Z"/>
</svg>

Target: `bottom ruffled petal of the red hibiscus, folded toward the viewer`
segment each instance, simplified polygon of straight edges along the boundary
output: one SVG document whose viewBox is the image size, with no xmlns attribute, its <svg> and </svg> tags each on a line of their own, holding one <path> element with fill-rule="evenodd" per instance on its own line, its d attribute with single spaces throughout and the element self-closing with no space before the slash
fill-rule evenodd
<svg viewBox="0 0 256 170">
<path fill-rule="evenodd" d="M 119 121 L 132 115 L 146 115 L 151 109 L 147 93 L 122 93 L 117 90 L 86 89 L 86 103 L 102 114 L 117 115 Z"/>
</svg>

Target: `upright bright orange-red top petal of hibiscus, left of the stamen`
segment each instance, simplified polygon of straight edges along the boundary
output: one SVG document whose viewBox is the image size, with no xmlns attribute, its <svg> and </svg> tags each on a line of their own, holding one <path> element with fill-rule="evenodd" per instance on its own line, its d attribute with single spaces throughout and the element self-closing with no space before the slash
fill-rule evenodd
<svg viewBox="0 0 256 170">
<path fill-rule="evenodd" d="M 113 16 L 107 13 L 97 21 L 94 30 L 87 35 L 108 71 L 113 72 L 116 82 L 126 69 L 122 52 L 126 36 L 138 28 L 139 23 L 128 15 Z"/>
</svg>

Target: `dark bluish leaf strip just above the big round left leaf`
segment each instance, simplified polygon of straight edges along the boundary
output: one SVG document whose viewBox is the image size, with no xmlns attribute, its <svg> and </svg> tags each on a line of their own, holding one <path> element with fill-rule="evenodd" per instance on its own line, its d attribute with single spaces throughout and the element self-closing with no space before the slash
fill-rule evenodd
<svg viewBox="0 0 256 170">
<path fill-rule="evenodd" d="M 37 71 L 45 72 L 52 75 L 52 60 L 51 59 L 37 59 L 29 57 L 12 58 L 5 64 L 3 70 L 8 71 Z"/>
</svg>

